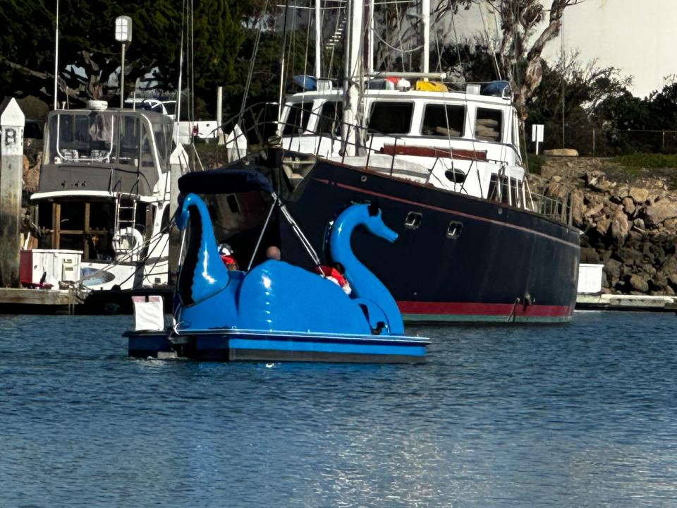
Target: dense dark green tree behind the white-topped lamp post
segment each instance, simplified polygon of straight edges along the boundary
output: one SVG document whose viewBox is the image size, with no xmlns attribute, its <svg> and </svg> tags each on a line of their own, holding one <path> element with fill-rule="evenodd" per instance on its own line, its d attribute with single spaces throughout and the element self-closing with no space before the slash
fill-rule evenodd
<svg viewBox="0 0 677 508">
<path fill-rule="evenodd" d="M 59 88 L 72 99 L 113 99 L 118 92 L 121 47 L 114 19 L 133 20 L 133 42 L 126 52 L 126 90 L 155 71 L 157 85 L 176 88 L 181 6 L 172 0 L 60 0 Z M 237 0 L 195 0 L 193 83 L 195 92 L 212 91 L 233 78 L 242 40 L 242 6 Z M 55 2 L 0 0 L 0 90 L 4 95 L 37 95 L 53 100 Z M 185 32 L 185 28 L 183 28 Z M 184 44 L 187 42 L 183 38 Z M 185 74 L 185 73 L 184 73 Z M 62 95 L 63 97 L 63 95 Z"/>
</svg>

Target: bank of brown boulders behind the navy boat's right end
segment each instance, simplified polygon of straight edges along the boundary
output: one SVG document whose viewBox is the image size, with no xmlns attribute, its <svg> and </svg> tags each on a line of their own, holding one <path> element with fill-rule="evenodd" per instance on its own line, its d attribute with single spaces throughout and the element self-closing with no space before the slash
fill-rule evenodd
<svg viewBox="0 0 677 508">
<path fill-rule="evenodd" d="M 628 171 L 609 159 L 548 157 L 532 192 L 568 202 L 581 262 L 604 265 L 602 291 L 677 291 L 677 169 Z"/>
</svg>

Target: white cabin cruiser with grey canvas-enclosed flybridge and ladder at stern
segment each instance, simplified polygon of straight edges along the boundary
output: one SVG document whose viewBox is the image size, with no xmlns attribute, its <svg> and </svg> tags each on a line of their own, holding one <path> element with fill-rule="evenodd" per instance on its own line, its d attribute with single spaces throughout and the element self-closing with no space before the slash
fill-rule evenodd
<svg viewBox="0 0 677 508">
<path fill-rule="evenodd" d="M 37 247 L 82 253 L 79 277 L 69 282 L 85 293 L 166 286 L 170 164 L 188 171 L 173 122 L 153 111 L 87 105 L 47 119 L 39 188 L 30 197 Z"/>
</svg>

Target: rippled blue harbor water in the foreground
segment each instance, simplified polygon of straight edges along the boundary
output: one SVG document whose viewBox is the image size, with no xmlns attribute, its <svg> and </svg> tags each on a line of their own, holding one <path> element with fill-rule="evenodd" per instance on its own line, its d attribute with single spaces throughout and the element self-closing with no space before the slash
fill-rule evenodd
<svg viewBox="0 0 677 508">
<path fill-rule="evenodd" d="M 132 360 L 0 316 L 1 507 L 676 507 L 677 318 L 410 327 L 422 365 Z"/>
</svg>

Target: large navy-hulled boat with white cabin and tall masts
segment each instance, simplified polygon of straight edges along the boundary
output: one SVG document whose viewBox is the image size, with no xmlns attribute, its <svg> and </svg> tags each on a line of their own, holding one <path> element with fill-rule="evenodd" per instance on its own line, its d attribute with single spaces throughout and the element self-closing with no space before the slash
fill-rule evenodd
<svg viewBox="0 0 677 508">
<path fill-rule="evenodd" d="M 302 90 L 268 115 L 274 136 L 254 140 L 264 130 L 243 115 L 224 125 L 231 162 L 253 157 L 268 171 L 274 157 L 262 162 L 256 151 L 279 148 L 273 178 L 319 252 L 336 210 L 378 202 L 401 241 L 386 251 L 360 238 L 355 249 L 405 320 L 571 320 L 579 231 L 566 202 L 530 188 L 508 83 L 453 83 L 431 73 L 425 44 L 421 73 L 378 71 L 365 59 L 365 34 L 374 30 L 364 4 L 346 6 L 342 83 L 319 78 L 316 52 L 317 76 L 297 76 Z M 424 34 L 428 8 L 422 4 Z M 284 257 L 305 262 L 288 227 L 279 231 Z"/>
</svg>

